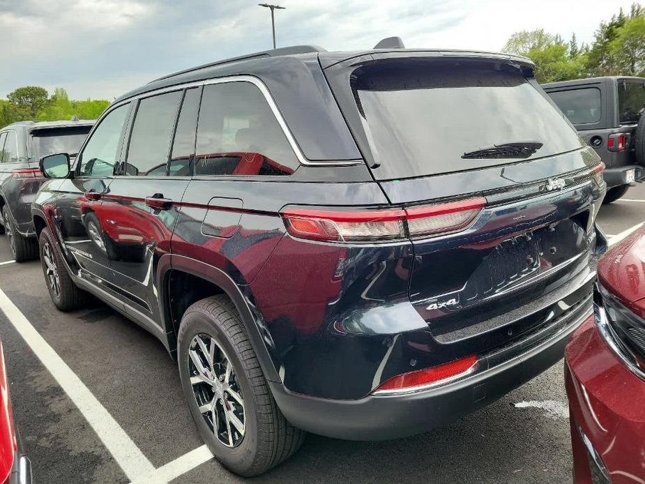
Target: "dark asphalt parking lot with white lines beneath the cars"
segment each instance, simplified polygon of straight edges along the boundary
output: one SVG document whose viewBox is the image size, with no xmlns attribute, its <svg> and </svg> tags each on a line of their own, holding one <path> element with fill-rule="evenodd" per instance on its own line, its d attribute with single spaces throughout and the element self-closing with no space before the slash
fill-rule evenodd
<svg viewBox="0 0 645 484">
<path fill-rule="evenodd" d="M 645 220 L 645 185 L 603 206 L 598 220 L 614 241 L 624 236 Z M 82 311 L 59 312 L 40 262 L 8 262 L 3 239 L 0 337 L 34 481 L 243 482 L 209 458 L 176 364 L 160 342 L 96 300 Z M 567 483 L 571 469 L 558 363 L 490 407 L 428 434 L 382 442 L 310 435 L 294 457 L 253 481 Z"/>
</svg>

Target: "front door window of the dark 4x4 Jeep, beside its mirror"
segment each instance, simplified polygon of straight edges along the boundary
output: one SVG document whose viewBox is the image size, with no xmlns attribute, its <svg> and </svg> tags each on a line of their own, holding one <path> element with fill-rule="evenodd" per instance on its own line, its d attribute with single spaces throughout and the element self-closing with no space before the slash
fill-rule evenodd
<svg viewBox="0 0 645 484">
<path fill-rule="evenodd" d="M 80 176 L 112 176 L 128 107 L 119 106 L 103 118 L 81 153 Z"/>
</svg>

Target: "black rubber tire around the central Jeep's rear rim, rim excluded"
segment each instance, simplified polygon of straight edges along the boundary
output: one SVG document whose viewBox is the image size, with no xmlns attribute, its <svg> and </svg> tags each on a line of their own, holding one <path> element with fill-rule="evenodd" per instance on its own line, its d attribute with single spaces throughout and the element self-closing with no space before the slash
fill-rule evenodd
<svg viewBox="0 0 645 484">
<path fill-rule="evenodd" d="M 192 368 L 197 367 L 194 363 L 189 363 L 189 351 L 191 345 L 195 345 L 193 348 L 197 349 L 195 338 L 204 338 L 204 336 L 213 338 L 208 341 L 209 351 L 211 351 L 213 341 L 218 345 L 216 348 L 219 347 L 215 351 L 223 350 L 221 354 L 226 357 L 225 361 L 229 361 L 227 365 L 232 365 L 234 385 L 240 390 L 238 395 L 243 397 L 244 433 L 236 446 L 222 444 L 221 435 L 218 435 L 219 438 L 215 437 L 215 432 L 211 428 L 213 425 L 212 411 L 206 411 L 205 414 L 199 411 L 197 395 L 194 393 L 194 387 L 190 381 L 192 376 L 197 375 L 195 370 L 191 370 L 191 365 Z M 204 340 L 202 339 L 202 341 Z M 204 354 L 203 351 L 202 354 Z M 287 460 L 301 447 L 305 439 L 305 432 L 287 422 L 278 409 L 235 305 L 227 296 L 218 295 L 202 299 L 186 310 L 179 327 L 177 356 L 181 386 L 185 398 L 188 400 L 190 412 L 195 418 L 199 434 L 215 458 L 224 467 L 239 476 L 257 476 Z M 208 361 L 204 361 L 208 365 Z M 211 364 L 211 376 L 215 375 L 215 379 L 217 379 L 216 368 L 223 372 L 222 368 L 224 367 L 220 363 Z M 224 400 L 217 399 L 218 393 L 215 391 L 214 385 L 211 386 L 211 384 L 203 382 L 195 385 L 199 385 L 196 388 L 198 393 L 204 392 L 204 388 L 206 391 L 211 391 L 206 395 L 206 400 L 211 398 L 212 394 L 212 402 L 221 402 L 222 405 L 225 403 Z M 229 386 L 229 390 L 231 388 L 233 387 Z M 226 391 L 223 395 L 226 397 Z M 229 401 L 235 405 L 234 400 L 230 400 L 230 397 Z M 235 411 L 236 408 L 240 407 L 229 407 L 229 411 L 231 411 L 230 409 Z M 215 409 L 215 405 L 213 405 L 213 409 Z M 208 420 L 209 413 L 211 414 L 210 420 Z M 241 419 L 238 422 L 241 422 Z M 217 428 L 215 425 L 213 427 Z M 233 427 L 229 428 L 234 429 Z M 228 433 L 235 434 L 235 432 L 234 429 L 234 432 L 229 430 Z M 237 436 L 239 438 L 239 434 Z"/>
</svg>

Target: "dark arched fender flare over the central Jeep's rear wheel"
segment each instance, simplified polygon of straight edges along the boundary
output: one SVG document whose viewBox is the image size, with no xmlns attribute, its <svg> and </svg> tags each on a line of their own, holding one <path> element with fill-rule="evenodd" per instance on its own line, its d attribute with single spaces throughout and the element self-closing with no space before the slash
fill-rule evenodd
<svg viewBox="0 0 645 484">
<path fill-rule="evenodd" d="M 281 383 L 275 361 L 271 358 L 271 354 L 266 346 L 267 338 L 264 338 L 261 325 L 257 322 L 257 319 L 251 311 L 248 298 L 244 296 L 240 287 L 225 271 L 215 266 L 183 255 L 167 254 L 161 257 L 158 263 L 157 287 L 160 288 L 160 314 L 162 315 L 167 335 L 170 336 L 174 333 L 172 315 L 168 314 L 167 304 L 167 301 L 169 301 L 167 278 L 171 271 L 183 271 L 195 275 L 198 278 L 208 280 L 208 282 L 220 287 L 229 296 L 246 328 L 262 372 L 264 372 L 264 377 L 268 381 Z"/>
</svg>

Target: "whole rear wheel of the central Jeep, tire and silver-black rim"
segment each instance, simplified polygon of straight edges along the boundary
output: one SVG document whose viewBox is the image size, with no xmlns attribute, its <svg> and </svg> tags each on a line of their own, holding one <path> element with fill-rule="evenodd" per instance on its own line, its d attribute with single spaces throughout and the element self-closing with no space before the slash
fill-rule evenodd
<svg viewBox="0 0 645 484">
<path fill-rule="evenodd" d="M 202 439 L 240 476 L 257 476 L 301 447 L 305 432 L 282 415 L 226 296 L 186 310 L 178 335 L 181 386 Z"/>
</svg>

